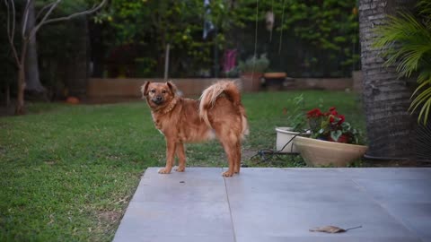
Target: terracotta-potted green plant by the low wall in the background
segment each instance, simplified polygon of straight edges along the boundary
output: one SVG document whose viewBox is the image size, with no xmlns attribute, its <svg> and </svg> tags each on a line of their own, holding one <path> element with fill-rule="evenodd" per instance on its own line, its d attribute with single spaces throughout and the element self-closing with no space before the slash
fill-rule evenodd
<svg viewBox="0 0 431 242">
<path fill-rule="evenodd" d="M 244 91 L 259 91 L 260 78 L 268 68 L 269 60 L 265 54 L 251 56 L 245 62 L 240 61 L 238 70 L 241 73 L 242 88 Z"/>
</svg>

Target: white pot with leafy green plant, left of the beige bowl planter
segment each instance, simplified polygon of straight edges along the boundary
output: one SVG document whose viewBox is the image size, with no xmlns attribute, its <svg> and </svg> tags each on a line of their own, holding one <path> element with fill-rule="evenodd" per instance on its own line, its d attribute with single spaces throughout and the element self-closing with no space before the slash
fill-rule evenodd
<svg viewBox="0 0 431 242">
<path fill-rule="evenodd" d="M 306 132 L 305 125 L 306 119 L 303 115 L 303 95 L 299 95 L 293 99 L 295 108 L 292 114 L 286 119 L 286 126 L 277 126 L 277 139 L 276 146 L 277 152 L 280 153 L 297 153 L 298 150 L 295 147 L 294 139 L 298 135 L 308 136 L 309 132 Z M 284 108 L 284 113 L 287 113 L 287 108 Z"/>
</svg>

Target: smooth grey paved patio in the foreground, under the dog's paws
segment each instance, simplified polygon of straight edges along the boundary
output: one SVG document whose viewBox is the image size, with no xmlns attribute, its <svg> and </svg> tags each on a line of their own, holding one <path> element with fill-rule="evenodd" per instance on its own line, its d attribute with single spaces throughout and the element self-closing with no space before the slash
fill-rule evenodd
<svg viewBox="0 0 431 242">
<path fill-rule="evenodd" d="M 431 241 L 431 169 L 222 170 L 147 169 L 114 241 Z"/>
</svg>

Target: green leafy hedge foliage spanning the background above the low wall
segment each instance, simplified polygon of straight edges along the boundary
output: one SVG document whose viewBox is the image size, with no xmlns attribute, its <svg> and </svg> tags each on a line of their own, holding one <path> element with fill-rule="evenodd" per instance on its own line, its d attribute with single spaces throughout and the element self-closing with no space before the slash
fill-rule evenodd
<svg viewBox="0 0 431 242">
<path fill-rule="evenodd" d="M 258 13 L 254 0 L 212 0 L 209 15 L 205 14 L 203 2 L 114 0 L 95 21 L 103 24 L 108 48 L 132 43 L 139 45 L 143 50 L 138 55 L 157 60 L 159 74 L 167 43 L 172 47 L 171 70 L 176 72 L 174 75 L 193 75 L 199 69 L 213 67 L 214 48 L 238 48 L 234 30 L 254 28 L 256 14 L 259 23 L 263 23 L 268 10 L 276 14 L 277 32 L 284 30 L 307 47 L 312 46 L 316 49 L 312 53 L 325 50 L 329 52 L 326 56 L 338 56 L 334 62 L 343 69 L 358 62 L 359 56 L 354 54 L 357 51 L 352 49 L 358 43 L 357 15 L 352 13 L 355 0 L 259 1 Z M 286 17 L 281 22 L 283 12 Z M 202 38 L 205 20 L 213 22 L 217 29 L 208 39 Z M 251 56 L 250 53 L 242 57 L 247 56 Z M 309 62 L 310 68 L 324 62 L 320 56 L 307 58 L 316 57 L 320 62 Z"/>
</svg>

